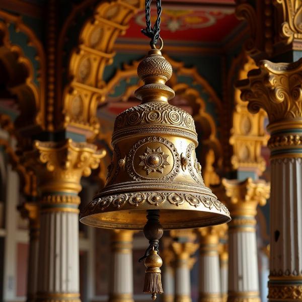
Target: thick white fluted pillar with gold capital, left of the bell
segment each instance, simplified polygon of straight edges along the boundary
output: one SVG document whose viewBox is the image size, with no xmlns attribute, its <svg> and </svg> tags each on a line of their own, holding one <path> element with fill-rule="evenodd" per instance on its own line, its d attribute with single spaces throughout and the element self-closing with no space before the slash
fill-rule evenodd
<svg viewBox="0 0 302 302">
<path fill-rule="evenodd" d="M 78 193 L 82 175 L 98 167 L 104 153 L 96 146 L 36 141 L 24 155 L 38 179 L 40 197 L 40 248 L 38 301 L 79 301 Z"/>
</svg>

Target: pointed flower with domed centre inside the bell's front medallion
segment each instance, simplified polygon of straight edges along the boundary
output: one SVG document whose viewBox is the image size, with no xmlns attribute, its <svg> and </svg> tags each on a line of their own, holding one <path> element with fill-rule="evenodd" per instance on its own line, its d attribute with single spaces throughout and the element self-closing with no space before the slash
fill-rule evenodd
<svg viewBox="0 0 302 302">
<path fill-rule="evenodd" d="M 169 155 L 162 152 L 162 148 L 150 149 L 146 147 L 145 153 L 140 155 L 139 166 L 143 166 L 143 170 L 147 172 L 147 175 L 151 172 L 163 173 L 165 167 L 170 165 L 167 161 Z"/>
</svg>

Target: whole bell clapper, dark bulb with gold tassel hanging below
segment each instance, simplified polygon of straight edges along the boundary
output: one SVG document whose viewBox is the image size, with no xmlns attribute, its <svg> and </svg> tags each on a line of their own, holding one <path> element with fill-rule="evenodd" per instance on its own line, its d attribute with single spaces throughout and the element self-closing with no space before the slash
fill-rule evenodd
<svg viewBox="0 0 302 302">
<path fill-rule="evenodd" d="M 157 293 L 163 293 L 162 277 L 160 267 L 163 264 L 159 256 L 159 240 L 163 236 L 164 229 L 160 223 L 160 210 L 147 210 L 147 222 L 143 228 L 143 235 L 149 241 L 149 247 L 145 255 L 139 259 L 144 259 L 145 280 L 144 293 L 151 293 L 152 299 L 156 299 Z"/>
</svg>

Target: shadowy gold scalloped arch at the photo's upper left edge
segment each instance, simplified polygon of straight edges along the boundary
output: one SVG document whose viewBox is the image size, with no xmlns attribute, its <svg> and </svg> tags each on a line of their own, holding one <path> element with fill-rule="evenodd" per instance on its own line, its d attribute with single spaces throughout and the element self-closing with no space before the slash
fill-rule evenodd
<svg viewBox="0 0 302 302">
<path fill-rule="evenodd" d="M 45 91 L 45 57 L 41 43 L 21 20 L 7 12 L 0 10 L 0 64 L 2 68 L 1 80 L 7 90 L 16 98 L 20 115 L 15 126 L 21 132 L 32 128 L 44 128 L 44 91 Z M 21 47 L 10 41 L 8 26 L 14 23 L 16 30 L 22 31 L 28 38 L 28 43 L 37 51 L 40 61 L 40 87 L 34 84 L 34 68 L 31 61 L 25 57 Z M 26 129 L 26 130 L 25 130 Z"/>
</svg>

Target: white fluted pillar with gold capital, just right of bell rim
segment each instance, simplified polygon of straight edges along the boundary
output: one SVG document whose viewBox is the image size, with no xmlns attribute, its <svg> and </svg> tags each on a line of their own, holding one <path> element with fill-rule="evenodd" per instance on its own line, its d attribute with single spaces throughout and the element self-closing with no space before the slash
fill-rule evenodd
<svg viewBox="0 0 302 302">
<path fill-rule="evenodd" d="M 258 259 L 256 243 L 257 205 L 269 197 L 269 184 L 251 178 L 240 182 L 223 179 L 229 223 L 229 302 L 259 301 Z"/>
</svg>

